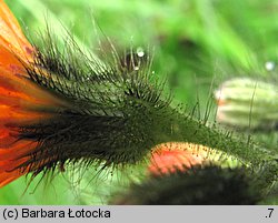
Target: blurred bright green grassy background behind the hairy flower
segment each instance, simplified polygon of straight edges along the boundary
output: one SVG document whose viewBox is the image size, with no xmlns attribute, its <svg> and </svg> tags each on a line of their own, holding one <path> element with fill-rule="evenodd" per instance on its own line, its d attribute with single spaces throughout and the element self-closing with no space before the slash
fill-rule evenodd
<svg viewBox="0 0 278 223">
<path fill-rule="evenodd" d="M 38 31 L 43 32 L 46 29 L 47 21 L 56 29 L 57 36 L 62 24 L 80 42 L 92 49 L 97 49 L 98 40 L 105 42 L 105 36 L 118 49 L 131 45 L 146 51 L 150 49 L 151 52 L 155 49 L 153 75 L 167 80 L 173 103 L 187 104 L 190 111 L 198 101 L 201 115 L 206 111 L 207 101 L 212 98 L 212 90 L 231 77 L 278 79 L 277 68 L 271 71 L 265 68 L 268 61 L 278 62 L 276 0 L 6 2 L 34 42 Z M 277 138 L 271 143 L 277 145 Z M 110 193 L 103 183 L 89 190 L 86 190 L 86 185 L 73 186 L 67 175 L 56 178 L 47 186 L 42 183 L 38 189 L 33 182 L 23 194 L 26 185 L 26 179 L 21 178 L 1 189 L 0 203 L 101 204 L 109 200 Z"/>
</svg>

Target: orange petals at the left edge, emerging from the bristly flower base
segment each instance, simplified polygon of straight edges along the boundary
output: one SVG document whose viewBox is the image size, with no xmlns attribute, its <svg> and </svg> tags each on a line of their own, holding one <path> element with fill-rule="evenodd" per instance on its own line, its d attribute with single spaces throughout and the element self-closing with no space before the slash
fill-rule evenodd
<svg viewBox="0 0 278 223">
<path fill-rule="evenodd" d="M 43 109 L 60 104 L 30 80 L 26 68 L 32 65 L 33 52 L 18 21 L 0 0 L 0 187 L 28 172 L 30 166 L 19 166 L 38 144 L 19 140 L 17 126 L 50 118 L 52 114 Z"/>
</svg>

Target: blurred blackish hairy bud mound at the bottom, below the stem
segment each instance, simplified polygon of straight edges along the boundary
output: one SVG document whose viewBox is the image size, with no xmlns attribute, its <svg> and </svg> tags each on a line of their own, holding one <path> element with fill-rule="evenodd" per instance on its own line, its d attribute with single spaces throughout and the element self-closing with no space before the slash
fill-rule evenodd
<svg viewBox="0 0 278 223">
<path fill-rule="evenodd" d="M 250 205 L 262 194 L 257 179 L 244 168 L 196 165 L 183 172 L 152 175 L 119 192 L 112 204 L 143 205 Z"/>
</svg>

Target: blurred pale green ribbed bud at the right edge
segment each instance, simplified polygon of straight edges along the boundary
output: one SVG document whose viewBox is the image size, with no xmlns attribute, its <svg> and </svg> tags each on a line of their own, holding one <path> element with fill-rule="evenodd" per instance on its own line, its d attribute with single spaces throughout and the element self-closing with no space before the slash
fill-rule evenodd
<svg viewBox="0 0 278 223">
<path fill-rule="evenodd" d="M 215 92 L 217 121 L 241 129 L 278 125 L 278 87 L 249 78 L 228 80 Z"/>
</svg>

